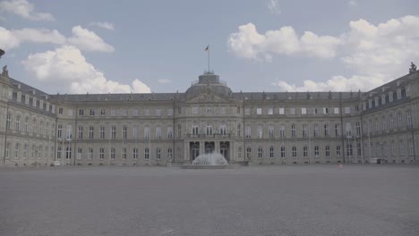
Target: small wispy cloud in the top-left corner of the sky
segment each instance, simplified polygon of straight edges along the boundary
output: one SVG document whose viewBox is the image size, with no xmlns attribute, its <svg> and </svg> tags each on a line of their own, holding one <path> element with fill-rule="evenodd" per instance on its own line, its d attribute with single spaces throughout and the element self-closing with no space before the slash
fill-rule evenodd
<svg viewBox="0 0 419 236">
<path fill-rule="evenodd" d="M 54 16 L 50 13 L 38 13 L 35 6 L 27 0 L 11 0 L 0 2 L 0 10 L 13 13 L 22 18 L 33 21 L 55 21 Z"/>
</svg>

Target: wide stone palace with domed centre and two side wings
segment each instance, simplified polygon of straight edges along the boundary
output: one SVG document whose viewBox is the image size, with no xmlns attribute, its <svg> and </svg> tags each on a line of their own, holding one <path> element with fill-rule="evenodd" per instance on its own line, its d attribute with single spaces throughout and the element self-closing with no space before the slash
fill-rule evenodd
<svg viewBox="0 0 419 236">
<path fill-rule="evenodd" d="M 0 77 L 0 166 L 410 164 L 419 72 L 368 92 L 233 92 L 206 72 L 184 93 L 49 95 Z"/>
</svg>

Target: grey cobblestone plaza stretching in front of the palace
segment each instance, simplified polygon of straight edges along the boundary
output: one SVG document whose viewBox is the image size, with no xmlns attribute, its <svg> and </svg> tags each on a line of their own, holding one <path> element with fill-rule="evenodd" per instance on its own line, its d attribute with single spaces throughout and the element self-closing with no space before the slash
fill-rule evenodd
<svg viewBox="0 0 419 236">
<path fill-rule="evenodd" d="M 419 234 L 419 165 L 2 169 L 0 235 Z"/>
</svg>

